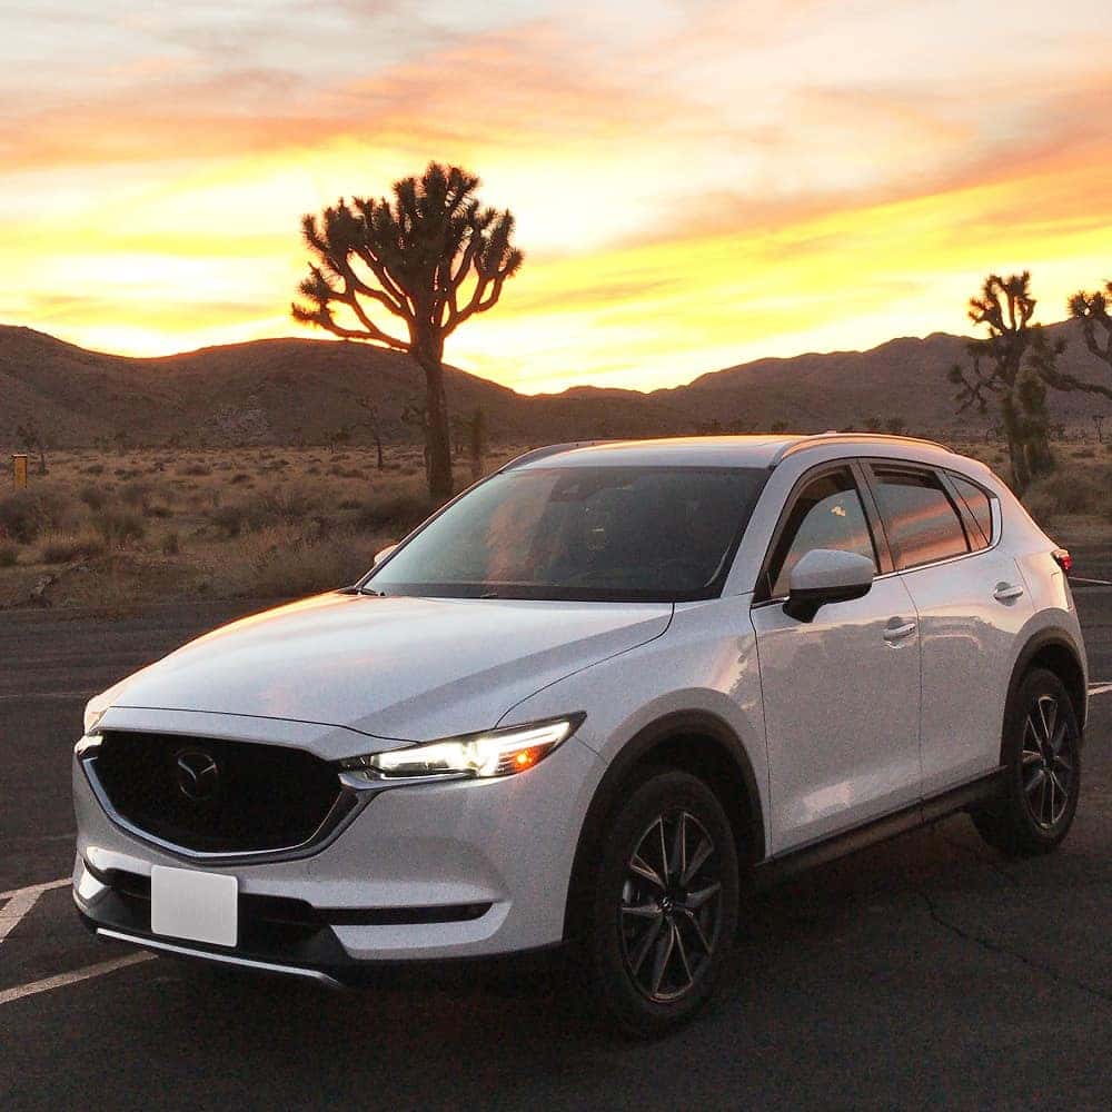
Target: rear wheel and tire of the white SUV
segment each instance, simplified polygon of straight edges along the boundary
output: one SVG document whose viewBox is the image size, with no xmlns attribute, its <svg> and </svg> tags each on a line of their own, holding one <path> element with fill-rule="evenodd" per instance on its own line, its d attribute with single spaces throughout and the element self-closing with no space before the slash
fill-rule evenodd
<svg viewBox="0 0 1112 1112">
<path fill-rule="evenodd" d="M 989 845 L 1012 857 L 1056 848 L 1073 824 L 1081 791 L 1081 729 L 1065 685 L 1032 668 L 1004 714 L 1003 797 L 973 812 Z"/>
</svg>

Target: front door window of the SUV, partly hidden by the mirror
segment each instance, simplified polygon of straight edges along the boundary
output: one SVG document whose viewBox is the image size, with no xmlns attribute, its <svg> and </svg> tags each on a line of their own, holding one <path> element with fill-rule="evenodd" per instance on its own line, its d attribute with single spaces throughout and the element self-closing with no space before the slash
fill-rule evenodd
<svg viewBox="0 0 1112 1112">
<path fill-rule="evenodd" d="M 768 563 L 768 596 L 787 594 L 792 568 L 812 548 L 836 548 L 867 556 L 876 567 L 868 519 L 848 468 L 827 471 L 800 492 Z"/>
</svg>

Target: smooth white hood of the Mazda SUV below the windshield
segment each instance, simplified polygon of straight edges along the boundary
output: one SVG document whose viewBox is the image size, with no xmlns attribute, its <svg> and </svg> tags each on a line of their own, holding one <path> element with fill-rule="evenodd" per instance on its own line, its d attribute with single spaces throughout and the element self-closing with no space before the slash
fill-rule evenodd
<svg viewBox="0 0 1112 1112">
<path fill-rule="evenodd" d="M 320 595 L 190 642 L 125 681 L 112 705 L 429 741 L 489 729 L 542 687 L 658 637 L 672 612 L 668 603 Z"/>
</svg>

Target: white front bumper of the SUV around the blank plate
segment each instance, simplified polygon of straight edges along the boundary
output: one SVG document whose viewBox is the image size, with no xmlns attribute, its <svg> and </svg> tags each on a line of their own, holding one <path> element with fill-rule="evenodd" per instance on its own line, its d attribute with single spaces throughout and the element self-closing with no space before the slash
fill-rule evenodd
<svg viewBox="0 0 1112 1112">
<path fill-rule="evenodd" d="M 117 825 L 75 761 L 73 897 L 88 925 L 109 937 L 286 972 L 332 976 L 360 963 L 536 950 L 563 939 L 576 843 L 602 772 L 573 737 L 515 776 L 381 792 L 311 855 L 214 864 Z M 151 934 L 153 865 L 235 875 L 237 945 Z"/>
</svg>

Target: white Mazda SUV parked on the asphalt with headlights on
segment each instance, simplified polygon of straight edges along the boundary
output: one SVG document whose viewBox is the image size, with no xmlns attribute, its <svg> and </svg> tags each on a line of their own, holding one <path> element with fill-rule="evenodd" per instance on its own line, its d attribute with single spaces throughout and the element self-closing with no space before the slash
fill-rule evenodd
<svg viewBox="0 0 1112 1112">
<path fill-rule="evenodd" d="M 529 453 L 359 584 L 92 699 L 75 897 L 105 937 L 325 981 L 582 947 L 626 1029 L 689 1017 L 739 890 L 969 811 L 1078 803 L 1069 556 L 897 437 Z"/>
</svg>

